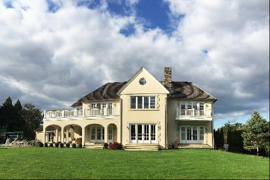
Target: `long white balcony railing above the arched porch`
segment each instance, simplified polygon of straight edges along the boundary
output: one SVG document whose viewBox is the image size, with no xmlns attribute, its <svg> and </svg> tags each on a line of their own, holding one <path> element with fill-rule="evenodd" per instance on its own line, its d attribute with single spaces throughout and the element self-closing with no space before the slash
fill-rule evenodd
<svg viewBox="0 0 270 180">
<path fill-rule="evenodd" d="M 118 108 L 44 111 L 44 118 L 115 116 L 115 115 L 119 115 Z"/>
</svg>

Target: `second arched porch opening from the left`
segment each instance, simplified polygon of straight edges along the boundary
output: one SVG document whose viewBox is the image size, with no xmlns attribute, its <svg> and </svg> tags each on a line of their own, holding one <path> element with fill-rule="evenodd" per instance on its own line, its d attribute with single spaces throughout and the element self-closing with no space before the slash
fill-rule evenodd
<svg viewBox="0 0 270 180">
<path fill-rule="evenodd" d="M 68 124 L 64 127 L 63 136 L 64 143 L 82 143 L 82 128 L 78 124 Z"/>
</svg>

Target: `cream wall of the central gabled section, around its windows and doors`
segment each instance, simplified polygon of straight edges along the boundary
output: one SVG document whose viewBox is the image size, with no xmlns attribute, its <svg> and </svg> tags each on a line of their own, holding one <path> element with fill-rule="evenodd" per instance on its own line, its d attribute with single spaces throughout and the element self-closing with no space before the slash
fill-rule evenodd
<svg viewBox="0 0 270 180">
<path fill-rule="evenodd" d="M 140 85 L 139 80 L 146 79 L 145 85 Z M 130 143 L 130 124 L 153 123 L 157 124 L 157 143 L 160 148 L 165 148 L 165 102 L 168 91 L 146 70 L 142 70 L 129 85 L 120 92 L 122 100 L 122 144 Z M 131 96 L 156 96 L 156 109 L 131 109 Z"/>
</svg>

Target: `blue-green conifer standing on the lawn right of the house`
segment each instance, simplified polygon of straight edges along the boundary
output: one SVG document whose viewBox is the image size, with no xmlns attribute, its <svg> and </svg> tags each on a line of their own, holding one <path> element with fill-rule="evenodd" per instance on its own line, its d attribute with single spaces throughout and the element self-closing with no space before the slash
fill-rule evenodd
<svg viewBox="0 0 270 180">
<path fill-rule="evenodd" d="M 243 125 L 243 146 L 246 150 L 257 150 L 269 146 L 269 123 L 256 110 Z M 268 147 L 269 148 L 269 147 Z"/>
</svg>

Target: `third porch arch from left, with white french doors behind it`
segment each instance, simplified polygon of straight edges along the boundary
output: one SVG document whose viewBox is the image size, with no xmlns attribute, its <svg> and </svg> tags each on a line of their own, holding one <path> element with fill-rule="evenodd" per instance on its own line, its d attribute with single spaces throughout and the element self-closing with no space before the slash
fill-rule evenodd
<svg viewBox="0 0 270 180">
<path fill-rule="evenodd" d="M 104 143 L 105 142 L 105 129 L 100 124 L 88 124 L 85 126 L 85 143 Z"/>
</svg>

